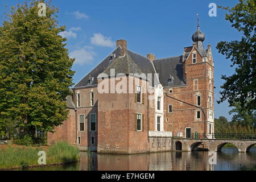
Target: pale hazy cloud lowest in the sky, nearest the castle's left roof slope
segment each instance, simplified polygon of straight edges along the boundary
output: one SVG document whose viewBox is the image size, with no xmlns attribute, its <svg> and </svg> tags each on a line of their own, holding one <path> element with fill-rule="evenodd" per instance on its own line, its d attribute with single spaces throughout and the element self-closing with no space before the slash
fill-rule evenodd
<svg viewBox="0 0 256 182">
<path fill-rule="evenodd" d="M 71 58 L 75 58 L 76 64 L 92 64 L 92 61 L 94 60 L 94 56 L 96 56 L 96 53 L 92 50 L 88 50 L 86 48 L 77 49 L 75 51 L 72 51 L 69 53 L 69 56 Z"/>
</svg>

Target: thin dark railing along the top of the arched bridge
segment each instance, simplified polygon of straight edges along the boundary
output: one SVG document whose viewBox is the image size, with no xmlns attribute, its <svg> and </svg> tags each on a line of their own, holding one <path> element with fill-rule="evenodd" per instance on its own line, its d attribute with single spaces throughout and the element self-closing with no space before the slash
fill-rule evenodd
<svg viewBox="0 0 256 182">
<path fill-rule="evenodd" d="M 255 133 L 172 133 L 173 138 L 192 138 L 192 139 L 255 139 Z"/>
</svg>

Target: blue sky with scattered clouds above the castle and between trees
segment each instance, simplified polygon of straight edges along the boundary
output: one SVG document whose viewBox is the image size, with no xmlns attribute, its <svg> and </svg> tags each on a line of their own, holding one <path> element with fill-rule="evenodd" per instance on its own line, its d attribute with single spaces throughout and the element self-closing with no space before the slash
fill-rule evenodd
<svg viewBox="0 0 256 182">
<path fill-rule="evenodd" d="M 2 0 L 0 22 L 3 12 L 23 0 Z M 92 68 L 99 64 L 115 48 L 115 41 L 126 39 L 131 51 L 146 56 L 153 53 L 156 58 L 182 55 L 183 48 L 192 45 L 192 34 L 196 31 L 196 14 L 200 15 L 200 29 L 206 39 L 204 46 L 212 46 L 215 66 L 215 117 L 224 115 L 229 120 L 228 103 L 217 104 L 221 75 L 232 75 L 231 61 L 218 53 L 216 46 L 221 40 L 240 40 L 241 33 L 225 20 L 225 10 L 217 9 L 217 16 L 210 17 L 209 3 L 234 6 L 238 0 L 179 0 L 179 1 L 99 1 L 99 0 L 53 0 L 59 7 L 59 24 L 67 26 L 66 36 L 69 55 L 76 57 L 73 65 L 77 83 Z M 7 7 L 4 7 L 7 5 Z"/>
</svg>

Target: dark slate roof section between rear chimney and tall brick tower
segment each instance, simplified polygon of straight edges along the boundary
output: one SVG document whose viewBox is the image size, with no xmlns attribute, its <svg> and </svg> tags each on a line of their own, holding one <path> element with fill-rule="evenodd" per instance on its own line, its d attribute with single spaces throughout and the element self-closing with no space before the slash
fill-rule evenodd
<svg viewBox="0 0 256 182">
<path fill-rule="evenodd" d="M 162 86 L 185 85 L 182 60 L 183 56 L 176 56 L 153 61 Z"/>
</svg>

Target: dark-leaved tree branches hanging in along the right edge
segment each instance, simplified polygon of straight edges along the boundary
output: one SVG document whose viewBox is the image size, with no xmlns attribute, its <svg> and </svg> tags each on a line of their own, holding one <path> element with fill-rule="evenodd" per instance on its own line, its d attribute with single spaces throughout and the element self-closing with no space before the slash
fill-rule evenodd
<svg viewBox="0 0 256 182">
<path fill-rule="evenodd" d="M 221 6 L 220 6 L 221 7 Z M 222 75 L 225 80 L 221 98 L 218 103 L 228 100 L 230 106 L 236 102 L 241 103 L 242 108 L 256 108 L 256 7 L 255 0 L 239 0 L 236 6 L 221 7 L 228 10 L 226 20 L 232 23 L 232 27 L 243 33 L 241 40 L 232 42 L 220 42 L 217 44 L 218 52 L 231 59 L 232 67 L 236 66 L 232 76 Z M 245 103 L 250 99 L 250 102 Z"/>
</svg>

